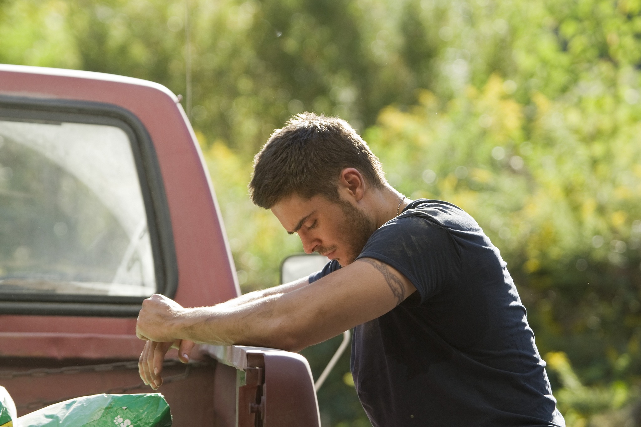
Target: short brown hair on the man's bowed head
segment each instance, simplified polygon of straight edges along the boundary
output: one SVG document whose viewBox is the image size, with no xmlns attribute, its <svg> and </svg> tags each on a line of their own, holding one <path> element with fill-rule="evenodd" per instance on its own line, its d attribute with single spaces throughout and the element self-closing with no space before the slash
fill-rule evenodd
<svg viewBox="0 0 641 427">
<path fill-rule="evenodd" d="M 385 185 L 378 157 L 345 120 L 298 114 L 254 157 L 251 200 L 265 209 L 292 195 L 338 200 L 337 181 L 345 168 L 356 168 L 371 186 Z"/>
</svg>

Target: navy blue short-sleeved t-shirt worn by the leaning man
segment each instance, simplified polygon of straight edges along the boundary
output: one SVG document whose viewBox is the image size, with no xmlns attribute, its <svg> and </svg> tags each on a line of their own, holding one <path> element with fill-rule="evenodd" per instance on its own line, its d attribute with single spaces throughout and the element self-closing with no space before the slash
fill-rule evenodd
<svg viewBox="0 0 641 427">
<path fill-rule="evenodd" d="M 374 427 L 565 426 L 506 262 L 469 214 L 415 200 L 363 257 L 417 289 L 354 328 L 351 371 Z"/>
</svg>

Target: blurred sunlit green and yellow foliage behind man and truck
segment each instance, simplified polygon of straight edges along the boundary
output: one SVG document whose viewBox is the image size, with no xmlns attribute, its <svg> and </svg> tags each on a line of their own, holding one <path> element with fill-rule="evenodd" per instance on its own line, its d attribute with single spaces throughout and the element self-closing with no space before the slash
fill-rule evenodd
<svg viewBox="0 0 641 427">
<path fill-rule="evenodd" d="M 392 185 L 460 205 L 501 249 L 568 425 L 634 426 L 640 11 L 639 0 L 0 0 L 0 61 L 185 95 L 188 22 L 192 124 L 245 291 L 276 284 L 301 250 L 249 202 L 251 156 L 294 113 L 340 115 Z M 304 352 L 315 375 L 335 346 Z M 367 425 L 348 359 L 319 392 L 328 425 Z"/>
</svg>

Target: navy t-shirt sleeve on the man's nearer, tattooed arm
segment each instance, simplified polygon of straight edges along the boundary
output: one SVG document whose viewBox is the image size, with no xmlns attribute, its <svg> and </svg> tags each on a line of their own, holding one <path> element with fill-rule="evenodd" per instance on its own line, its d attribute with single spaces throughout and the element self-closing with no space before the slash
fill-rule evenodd
<svg viewBox="0 0 641 427">
<path fill-rule="evenodd" d="M 357 259 L 374 258 L 403 273 L 423 303 L 456 277 L 460 254 L 444 227 L 406 215 L 385 223 L 369 238 Z"/>
</svg>

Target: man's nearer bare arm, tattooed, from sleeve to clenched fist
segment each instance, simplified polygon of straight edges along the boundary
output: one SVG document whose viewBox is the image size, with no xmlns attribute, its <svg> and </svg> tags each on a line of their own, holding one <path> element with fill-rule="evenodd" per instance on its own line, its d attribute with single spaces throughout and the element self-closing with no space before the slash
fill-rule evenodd
<svg viewBox="0 0 641 427">
<path fill-rule="evenodd" d="M 390 282 L 390 275 L 400 280 Z M 136 332 L 141 339 L 157 342 L 183 339 L 297 351 L 385 314 L 398 304 L 399 292 L 415 291 L 392 268 L 362 260 L 312 285 L 306 282 L 193 309 L 153 295 L 142 303 Z M 399 291 L 397 284 L 404 289 Z"/>
</svg>

